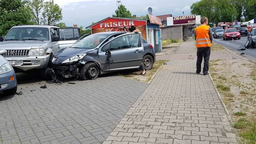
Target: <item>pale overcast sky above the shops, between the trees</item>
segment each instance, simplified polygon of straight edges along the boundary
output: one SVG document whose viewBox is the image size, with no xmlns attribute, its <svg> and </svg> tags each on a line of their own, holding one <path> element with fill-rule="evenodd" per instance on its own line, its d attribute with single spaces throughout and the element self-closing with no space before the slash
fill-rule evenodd
<svg viewBox="0 0 256 144">
<path fill-rule="evenodd" d="M 67 26 L 77 24 L 88 27 L 91 22 L 98 22 L 111 17 L 117 9 L 117 0 L 54 0 L 62 8 L 63 20 Z M 147 8 L 153 9 L 153 15 L 172 14 L 173 16 L 190 15 L 190 6 L 199 0 L 121 0 L 132 15 L 145 16 Z"/>
</svg>

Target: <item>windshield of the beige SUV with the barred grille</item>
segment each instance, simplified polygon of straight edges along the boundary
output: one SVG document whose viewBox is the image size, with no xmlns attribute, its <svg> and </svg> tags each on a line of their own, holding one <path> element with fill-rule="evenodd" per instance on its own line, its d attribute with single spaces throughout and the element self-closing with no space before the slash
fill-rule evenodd
<svg viewBox="0 0 256 144">
<path fill-rule="evenodd" d="M 17 27 L 12 28 L 5 38 L 6 41 L 10 40 L 49 40 L 48 28 L 40 27 Z"/>
</svg>

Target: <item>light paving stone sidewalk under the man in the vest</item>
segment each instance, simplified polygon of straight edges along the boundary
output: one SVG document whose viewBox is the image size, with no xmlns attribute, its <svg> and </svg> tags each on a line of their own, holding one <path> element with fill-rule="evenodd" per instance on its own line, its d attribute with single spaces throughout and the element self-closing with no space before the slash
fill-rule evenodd
<svg viewBox="0 0 256 144">
<path fill-rule="evenodd" d="M 170 61 L 103 144 L 237 144 L 210 76 L 195 74 L 192 39 L 157 59 Z"/>
</svg>

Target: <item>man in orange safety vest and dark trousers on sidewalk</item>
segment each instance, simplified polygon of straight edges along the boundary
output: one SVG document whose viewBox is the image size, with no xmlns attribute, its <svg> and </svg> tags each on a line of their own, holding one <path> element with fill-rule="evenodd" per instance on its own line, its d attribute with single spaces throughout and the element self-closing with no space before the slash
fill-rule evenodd
<svg viewBox="0 0 256 144">
<path fill-rule="evenodd" d="M 195 40 L 197 48 L 196 73 L 201 72 L 202 58 L 204 59 L 203 75 L 208 74 L 210 60 L 210 46 L 212 42 L 212 31 L 208 26 L 208 18 L 201 18 L 201 26 L 195 30 Z"/>
</svg>

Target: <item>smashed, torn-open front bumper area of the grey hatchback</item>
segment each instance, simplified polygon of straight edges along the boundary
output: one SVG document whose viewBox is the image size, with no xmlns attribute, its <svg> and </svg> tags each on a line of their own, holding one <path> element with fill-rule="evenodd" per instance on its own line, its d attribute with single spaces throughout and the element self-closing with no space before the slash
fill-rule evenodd
<svg viewBox="0 0 256 144">
<path fill-rule="evenodd" d="M 78 77 L 80 75 L 77 63 L 60 66 L 51 65 L 51 67 L 53 68 L 55 74 L 62 76 L 64 78 Z"/>
</svg>

